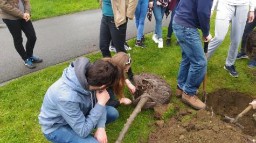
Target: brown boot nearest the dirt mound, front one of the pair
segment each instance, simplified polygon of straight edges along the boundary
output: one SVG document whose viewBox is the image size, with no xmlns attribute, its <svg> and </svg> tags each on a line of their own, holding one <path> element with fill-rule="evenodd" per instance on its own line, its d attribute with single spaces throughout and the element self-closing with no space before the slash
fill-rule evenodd
<svg viewBox="0 0 256 143">
<path fill-rule="evenodd" d="M 196 95 L 188 95 L 184 92 L 182 93 L 182 101 L 188 103 L 192 108 L 196 110 L 205 109 L 206 105 L 198 99 Z"/>
</svg>

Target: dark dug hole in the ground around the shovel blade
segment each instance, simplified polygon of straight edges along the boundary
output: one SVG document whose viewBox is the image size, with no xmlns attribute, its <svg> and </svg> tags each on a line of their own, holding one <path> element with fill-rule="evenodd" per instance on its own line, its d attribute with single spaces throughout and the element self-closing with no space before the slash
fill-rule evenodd
<svg viewBox="0 0 256 143">
<path fill-rule="evenodd" d="M 229 89 L 219 89 L 207 94 L 206 104 L 207 107 L 212 107 L 213 112 L 217 115 L 235 118 L 252 100 L 253 97 L 248 94 L 230 91 Z M 211 108 L 207 109 L 211 110 Z M 251 109 L 238 121 L 245 127 L 243 133 L 250 136 L 256 136 L 256 121 L 252 117 L 254 113 L 255 110 Z"/>
</svg>

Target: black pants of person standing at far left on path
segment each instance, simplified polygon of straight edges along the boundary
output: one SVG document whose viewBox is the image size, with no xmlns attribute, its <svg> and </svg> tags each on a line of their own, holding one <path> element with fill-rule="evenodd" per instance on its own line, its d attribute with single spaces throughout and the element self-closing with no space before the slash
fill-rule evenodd
<svg viewBox="0 0 256 143">
<path fill-rule="evenodd" d="M 32 22 L 25 21 L 24 19 L 9 20 L 3 19 L 4 23 L 8 27 L 12 37 L 15 49 L 23 60 L 26 60 L 33 55 L 34 44 L 36 44 L 36 33 L 34 32 L 34 27 Z M 23 47 L 22 31 L 27 37 L 26 50 Z"/>
</svg>

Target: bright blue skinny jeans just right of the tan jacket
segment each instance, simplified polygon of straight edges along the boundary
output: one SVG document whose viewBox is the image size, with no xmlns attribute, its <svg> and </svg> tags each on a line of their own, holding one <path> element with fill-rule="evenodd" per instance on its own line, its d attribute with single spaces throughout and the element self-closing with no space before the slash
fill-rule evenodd
<svg viewBox="0 0 256 143">
<path fill-rule="evenodd" d="M 138 30 L 137 41 L 143 36 L 144 21 L 148 12 L 148 0 L 139 0 L 135 11 L 135 24 Z"/>
</svg>

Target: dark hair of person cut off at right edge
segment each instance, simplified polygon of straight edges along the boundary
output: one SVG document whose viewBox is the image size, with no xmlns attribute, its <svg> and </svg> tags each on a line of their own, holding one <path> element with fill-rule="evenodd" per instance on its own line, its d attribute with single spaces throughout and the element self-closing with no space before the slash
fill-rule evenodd
<svg viewBox="0 0 256 143">
<path fill-rule="evenodd" d="M 255 59 L 256 55 L 256 29 L 254 29 L 246 39 L 245 52 L 251 58 Z"/>
</svg>

